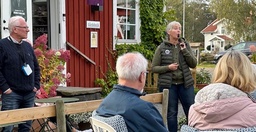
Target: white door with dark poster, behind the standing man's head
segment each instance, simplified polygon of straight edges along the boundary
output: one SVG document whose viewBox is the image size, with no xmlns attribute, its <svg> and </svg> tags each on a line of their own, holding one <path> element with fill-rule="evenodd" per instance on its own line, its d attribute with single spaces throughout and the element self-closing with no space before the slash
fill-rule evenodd
<svg viewBox="0 0 256 132">
<path fill-rule="evenodd" d="M 29 30 L 32 28 L 32 15 L 31 15 L 31 0 L 20 0 L 20 2 L 26 1 L 27 2 L 27 25 L 29 27 Z M 8 22 L 11 17 L 11 0 L 1 0 L 1 16 L 0 16 L 0 28 L 1 28 L 1 38 L 5 38 L 9 36 L 8 29 Z M 32 40 L 32 32 L 28 33 L 28 39 Z"/>
</svg>

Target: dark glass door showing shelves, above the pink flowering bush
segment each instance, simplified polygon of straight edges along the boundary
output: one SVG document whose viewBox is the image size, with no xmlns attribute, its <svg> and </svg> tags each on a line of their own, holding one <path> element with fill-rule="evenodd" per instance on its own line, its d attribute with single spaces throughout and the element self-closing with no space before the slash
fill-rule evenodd
<svg viewBox="0 0 256 132">
<path fill-rule="evenodd" d="M 41 35 L 47 34 L 50 47 L 49 4 L 48 0 L 32 0 L 33 43 Z"/>
</svg>

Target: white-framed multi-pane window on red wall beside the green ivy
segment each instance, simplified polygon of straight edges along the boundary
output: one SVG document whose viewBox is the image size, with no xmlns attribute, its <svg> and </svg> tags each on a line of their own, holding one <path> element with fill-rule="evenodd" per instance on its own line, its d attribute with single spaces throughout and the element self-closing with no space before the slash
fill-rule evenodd
<svg viewBox="0 0 256 132">
<path fill-rule="evenodd" d="M 113 7 L 114 42 L 139 42 L 139 6 L 136 1 L 114 0 Z"/>
</svg>

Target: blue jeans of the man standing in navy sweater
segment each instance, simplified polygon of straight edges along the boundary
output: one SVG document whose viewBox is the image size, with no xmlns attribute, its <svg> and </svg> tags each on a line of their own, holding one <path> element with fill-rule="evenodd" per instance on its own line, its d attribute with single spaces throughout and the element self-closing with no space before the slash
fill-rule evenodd
<svg viewBox="0 0 256 132">
<path fill-rule="evenodd" d="M 35 101 L 35 92 L 30 92 L 28 95 L 20 96 L 14 92 L 10 94 L 2 94 L 2 107 L 1 111 L 12 110 L 12 109 L 21 109 L 29 108 L 34 106 Z M 32 121 L 26 121 L 26 123 L 18 125 L 18 132 L 29 132 L 32 125 Z M 3 127 L 2 132 L 12 132 L 12 126 Z"/>
</svg>

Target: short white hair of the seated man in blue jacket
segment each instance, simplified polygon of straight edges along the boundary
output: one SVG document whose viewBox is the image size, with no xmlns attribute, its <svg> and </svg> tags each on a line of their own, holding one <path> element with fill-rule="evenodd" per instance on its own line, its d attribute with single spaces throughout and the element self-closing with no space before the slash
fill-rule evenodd
<svg viewBox="0 0 256 132">
<path fill-rule="evenodd" d="M 139 52 L 130 52 L 117 58 L 116 72 L 118 78 L 134 82 L 141 72 L 145 72 L 148 67 L 148 60 Z M 146 74 L 145 74 L 146 76 Z"/>
</svg>

